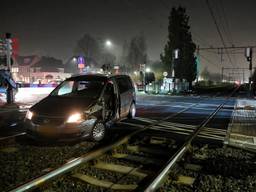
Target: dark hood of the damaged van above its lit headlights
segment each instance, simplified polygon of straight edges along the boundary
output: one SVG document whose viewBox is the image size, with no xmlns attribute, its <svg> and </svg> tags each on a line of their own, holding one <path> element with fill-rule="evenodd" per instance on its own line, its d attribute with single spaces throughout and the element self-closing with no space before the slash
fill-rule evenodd
<svg viewBox="0 0 256 192">
<path fill-rule="evenodd" d="M 88 110 L 97 99 L 80 97 L 48 96 L 35 104 L 31 111 L 39 115 L 68 116 L 71 113 Z"/>
</svg>

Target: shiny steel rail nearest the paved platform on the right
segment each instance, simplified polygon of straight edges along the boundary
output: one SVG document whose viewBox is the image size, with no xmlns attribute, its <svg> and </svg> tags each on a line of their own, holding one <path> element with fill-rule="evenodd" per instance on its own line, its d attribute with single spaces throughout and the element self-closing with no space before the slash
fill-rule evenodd
<svg viewBox="0 0 256 192">
<path fill-rule="evenodd" d="M 187 150 L 191 146 L 191 142 L 198 136 L 200 133 L 201 129 L 204 128 L 210 120 L 223 108 L 223 106 L 228 102 L 228 99 L 239 89 L 237 87 L 234 89 L 234 91 L 226 97 L 226 100 L 220 104 L 209 116 L 208 118 L 203 121 L 193 132 L 193 134 L 190 135 L 188 140 L 183 144 L 181 148 L 169 159 L 167 164 L 160 170 L 160 172 L 156 175 L 156 177 L 152 180 L 152 182 L 146 186 L 144 189 L 145 192 L 154 192 L 156 189 L 160 187 L 162 184 L 163 180 L 166 178 L 168 175 L 169 171 L 176 165 L 177 161 L 183 157 L 183 155 L 187 152 Z"/>
</svg>

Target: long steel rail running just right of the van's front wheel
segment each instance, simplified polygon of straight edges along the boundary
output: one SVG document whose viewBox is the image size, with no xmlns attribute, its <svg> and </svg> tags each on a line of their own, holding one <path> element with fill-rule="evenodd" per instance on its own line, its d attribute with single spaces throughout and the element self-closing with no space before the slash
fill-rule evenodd
<svg viewBox="0 0 256 192">
<path fill-rule="evenodd" d="M 200 102 L 200 101 L 199 101 Z M 136 130 L 128 135 L 126 135 L 125 137 L 119 139 L 117 142 L 114 142 L 112 144 L 109 144 L 108 146 L 105 146 L 103 148 L 100 148 L 100 149 L 96 149 L 94 151 L 91 151 L 91 152 L 88 152 L 78 158 L 75 158 L 67 163 L 65 163 L 64 165 L 61 165 L 60 167 L 44 174 L 44 175 L 41 175 L 39 177 L 36 177 L 35 179 L 32 179 L 28 182 L 25 182 L 13 189 L 11 189 L 9 192 L 25 192 L 25 191 L 31 191 L 31 190 L 34 190 L 36 188 L 38 188 L 40 185 L 50 181 L 50 180 L 53 180 L 55 179 L 56 177 L 59 177 L 61 175 L 64 175 L 65 173 L 67 172 L 70 172 L 72 171 L 74 168 L 78 167 L 79 165 L 81 165 L 82 163 L 86 163 L 86 162 L 89 162 L 97 157 L 100 157 L 102 156 L 104 153 L 110 151 L 111 149 L 113 149 L 114 147 L 117 147 L 117 146 L 120 146 L 124 143 L 127 143 L 129 141 L 129 139 L 140 133 L 140 132 L 143 132 L 147 129 L 150 129 L 151 127 L 157 125 L 158 123 L 161 123 L 161 122 L 164 122 L 166 121 L 167 119 L 170 119 L 170 118 L 173 118 L 177 115 L 179 115 L 180 113 L 183 113 L 187 110 L 189 110 L 190 108 L 200 104 L 199 102 L 195 103 L 195 104 L 192 104 L 188 107 L 186 107 L 185 109 L 182 109 L 180 110 L 179 112 L 175 113 L 175 114 L 171 114 L 161 120 L 158 120 L 156 122 L 152 122 L 152 124 L 150 125 L 145 125 L 144 127 L 141 127 L 140 130 Z"/>
</svg>

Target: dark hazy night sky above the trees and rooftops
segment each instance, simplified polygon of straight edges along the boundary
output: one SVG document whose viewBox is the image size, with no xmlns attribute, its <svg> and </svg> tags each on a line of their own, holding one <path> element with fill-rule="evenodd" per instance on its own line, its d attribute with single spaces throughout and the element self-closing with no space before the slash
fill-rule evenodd
<svg viewBox="0 0 256 192">
<path fill-rule="evenodd" d="M 255 0 L 209 1 L 228 46 L 230 37 L 237 46 L 256 44 Z M 167 39 L 170 9 L 177 5 L 187 8 L 197 44 L 222 46 L 205 0 L 5 0 L 1 2 L 0 34 L 15 34 L 20 39 L 22 55 L 40 54 L 65 60 L 84 33 L 111 39 L 113 52 L 118 55 L 124 40 L 143 32 L 149 57 L 157 60 Z M 225 24 L 221 5 L 229 25 L 228 37 L 221 27 Z M 209 60 L 202 59 L 202 65 L 219 71 L 218 55 L 201 54 Z M 247 64 L 243 55 L 231 57 L 234 66 Z M 224 66 L 230 66 L 225 57 Z"/>
</svg>

